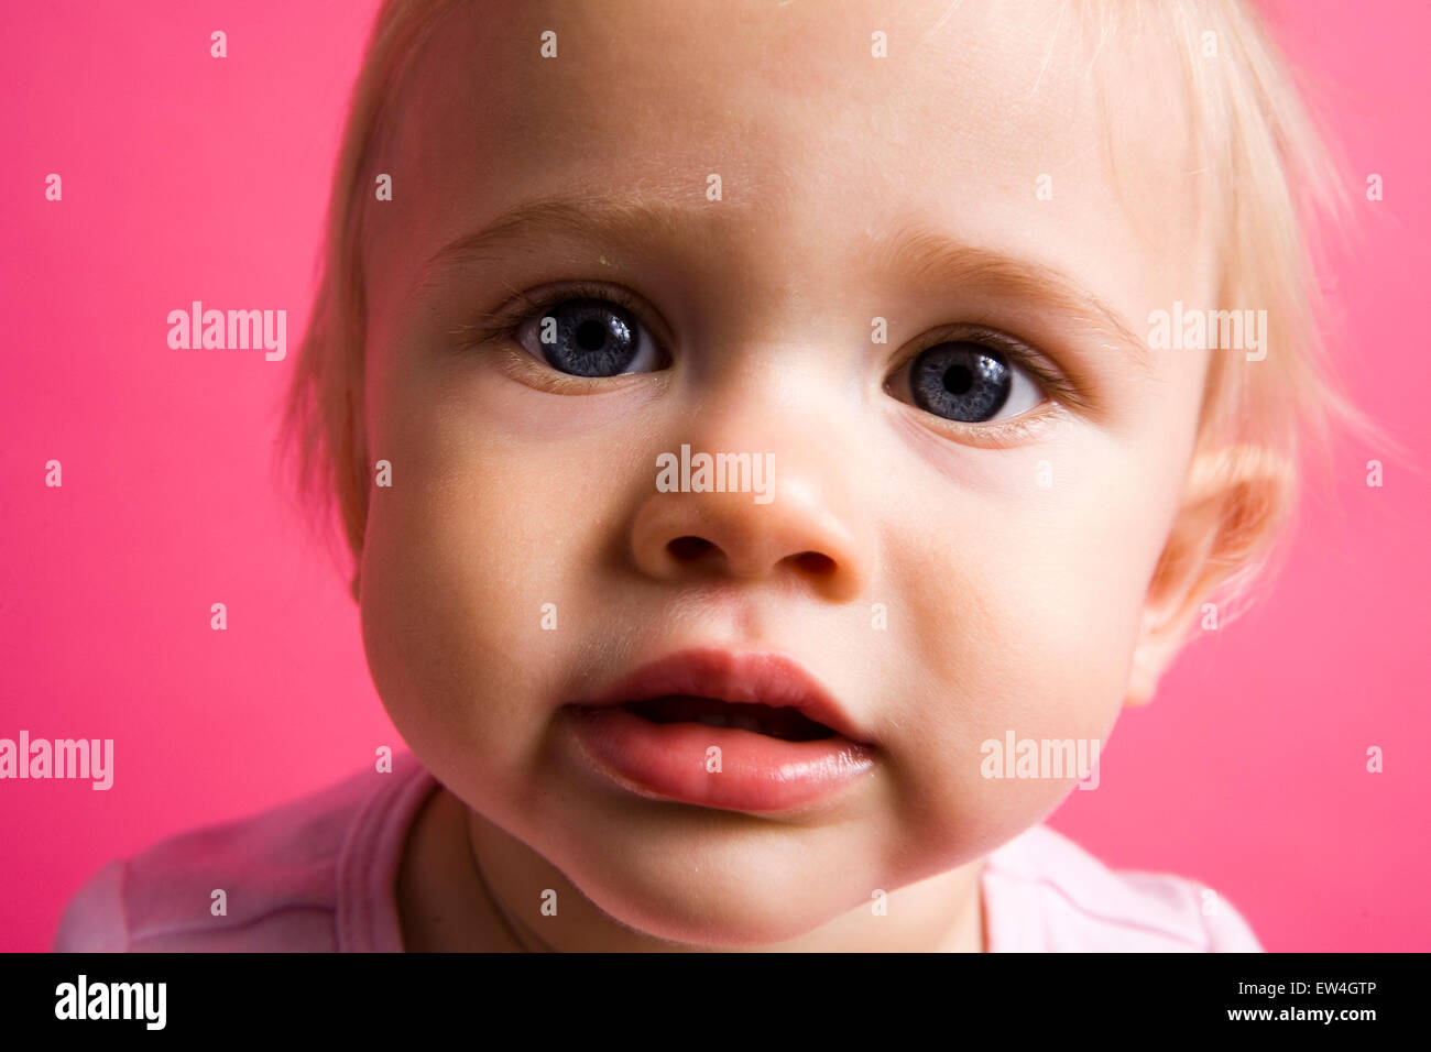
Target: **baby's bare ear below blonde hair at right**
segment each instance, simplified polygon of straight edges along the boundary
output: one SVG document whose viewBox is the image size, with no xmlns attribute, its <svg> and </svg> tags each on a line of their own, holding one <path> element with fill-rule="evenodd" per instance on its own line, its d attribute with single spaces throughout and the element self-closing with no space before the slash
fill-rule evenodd
<svg viewBox="0 0 1431 1052">
<path fill-rule="evenodd" d="M 1288 461 L 1258 445 L 1199 451 L 1148 585 L 1126 704 L 1152 700 L 1158 681 L 1201 623 L 1202 604 L 1239 571 L 1255 571 L 1296 498 Z M 1226 623 L 1219 614 L 1219 624 Z"/>
</svg>

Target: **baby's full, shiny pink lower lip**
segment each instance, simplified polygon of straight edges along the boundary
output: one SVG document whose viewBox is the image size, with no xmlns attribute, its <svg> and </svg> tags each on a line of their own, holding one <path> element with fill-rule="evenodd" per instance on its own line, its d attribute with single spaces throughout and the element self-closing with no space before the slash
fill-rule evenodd
<svg viewBox="0 0 1431 1052">
<path fill-rule="evenodd" d="M 783 812 L 820 803 L 874 766 L 844 737 L 787 741 L 736 727 L 653 723 L 621 706 L 572 708 L 587 756 L 618 784 L 701 807 Z M 720 770 L 711 770 L 720 749 Z"/>
</svg>

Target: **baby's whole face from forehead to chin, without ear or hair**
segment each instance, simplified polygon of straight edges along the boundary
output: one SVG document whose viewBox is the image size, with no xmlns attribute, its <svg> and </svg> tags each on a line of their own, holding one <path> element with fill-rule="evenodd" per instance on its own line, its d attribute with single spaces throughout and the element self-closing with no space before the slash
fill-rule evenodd
<svg viewBox="0 0 1431 1052">
<path fill-rule="evenodd" d="M 985 777 L 986 740 L 1108 740 L 1208 368 L 1141 336 L 1213 288 L 1171 54 L 1079 21 L 474 4 L 401 93 L 368 657 L 426 766 L 618 920 L 793 937 L 1076 784 Z M 539 199 L 574 203 L 444 252 Z M 667 491 L 683 447 L 766 495 Z M 572 707 L 691 648 L 803 666 L 863 747 Z"/>
</svg>

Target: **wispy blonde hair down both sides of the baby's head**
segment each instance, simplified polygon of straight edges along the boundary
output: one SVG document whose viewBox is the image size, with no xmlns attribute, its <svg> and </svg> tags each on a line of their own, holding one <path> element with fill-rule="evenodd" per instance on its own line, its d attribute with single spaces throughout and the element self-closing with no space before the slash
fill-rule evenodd
<svg viewBox="0 0 1431 1052">
<path fill-rule="evenodd" d="M 353 89 L 326 218 L 318 292 L 282 424 L 280 447 L 296 454 L 301 497 L 331 525 L 336 498 L 348 550 L 361 557 L 366 521 L 362 434 L 365 283 L 361 248 L 373 198 L 373 150 L 424 42 L 464 0 L 385 0 Z M 1181 57 L 1199 149 L 1224 192 L 1218 302 L 1265 306 L 1276 342 L 1265 361 L 1213 354 L 1188 488 L 1212 497 L 1179 517 L 1155 583 L 1189 577 L 1186 624 L 1216 594 L 1235 617 L 1251 584 L 1269 568 L 1281 527 L 1299 495 L 1301 454 L 1311 438 L 1327 455 L 1332 419 L 1395 448 L 1341 394 L 1321 333 L 1314 265 L 1319 219 L 1345 218 L 1348 196 L 1327 139 L 1304 107 L 1285 60 L 1258 14 L 1234 0 L 1132 6 L 1095 3 L 1099 39 L 1152 29 Z M 1216 34 L 1218 62 L 1199 49 Z M 313 500 L 316 498 L 316 500 Z M 1186 584 L 1186 581 L 1183 581 Z M 1179 588 L 1179 591 L 1183 591 Z"/>
</svg>

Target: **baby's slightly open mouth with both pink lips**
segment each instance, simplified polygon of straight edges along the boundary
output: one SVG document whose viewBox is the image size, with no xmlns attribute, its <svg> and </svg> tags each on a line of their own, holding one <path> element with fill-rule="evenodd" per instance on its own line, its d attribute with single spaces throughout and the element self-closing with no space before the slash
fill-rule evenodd
<svg viewBox="0 0 1431 1052">
<path fill-rule="evenodd" d="M 567 710 L 587 766 L 645 797 L 788 812 L 874 766 L 839 700 L 776 653 L 681 651 Z"/>
</svg>

